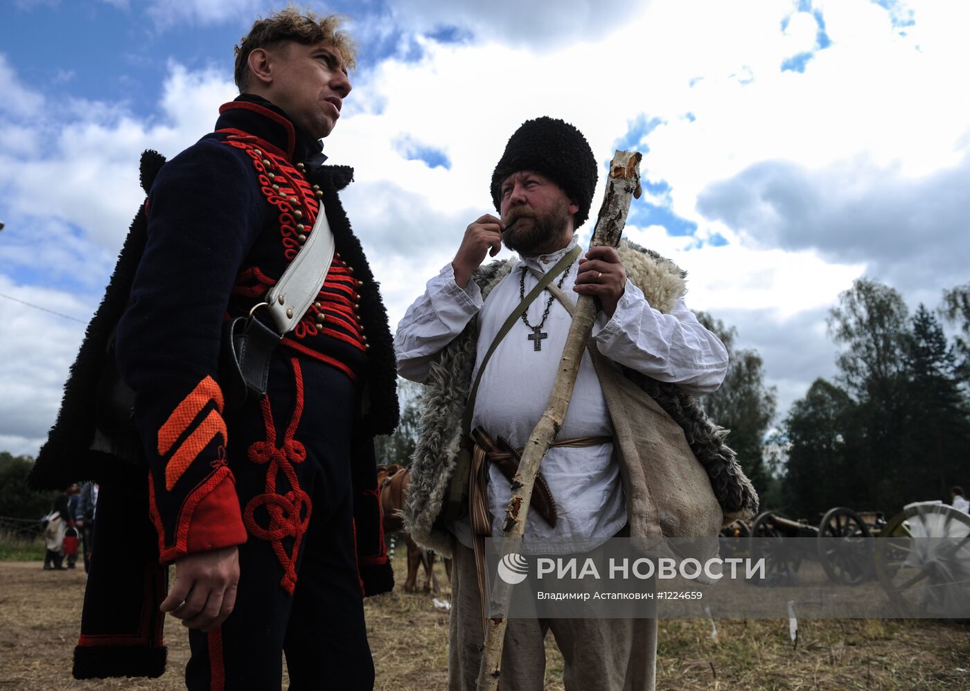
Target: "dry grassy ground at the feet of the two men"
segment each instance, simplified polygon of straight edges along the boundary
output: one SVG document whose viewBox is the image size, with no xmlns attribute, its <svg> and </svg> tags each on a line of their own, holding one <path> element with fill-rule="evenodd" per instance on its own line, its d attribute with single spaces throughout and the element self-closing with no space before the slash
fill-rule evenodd
<svg viewBox="0 0 970 691">
<path fill-rule="evenodd" d="M 396 563 L 403 582 L 404 563 Z M 447 600 L 447 580 L 440 576 Z M 0 691 L 3 689 L 183 688 L 184 629 L 166 625 L 169 669 L 159 679 L 76 681 L 84 574 L 42 571 L 40 562 L 0 562 Z M 444 691 L 448 614 L 430 594 L 393 593 L 367 602 L 378 691 Z M 915 620 L 663 621 L 661 689 L 967 689 L 970 626 Z M 562 691 L 562 658 L 547 641 L 546 688 Z M 321 680 L 321 688 L 327 688 Z M 338 690 L 339 691 L 339 690 Z"/>
</svg>

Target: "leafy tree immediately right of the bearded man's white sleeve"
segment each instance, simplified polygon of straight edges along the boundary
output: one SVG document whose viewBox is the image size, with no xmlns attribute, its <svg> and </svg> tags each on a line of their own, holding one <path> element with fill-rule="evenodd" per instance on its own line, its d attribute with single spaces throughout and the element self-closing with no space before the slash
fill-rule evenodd
<svg viewBox="0 0 970 691">
<path fill-rule="evenodd" d="M 776 410 L 776 390 L 765 386 L 764 362 L 757 350 L 738 349 L 737 330 L 704 312 L 697 320 L 713 331 L 727 348 L 724 384 L 700 402 L 717 424 L 730 429 L 727 444 L 737 452 L 744 472 L 760 495 L 768 491 L 770 474 L 764 462 L 764 439 Z"/>
</svg>

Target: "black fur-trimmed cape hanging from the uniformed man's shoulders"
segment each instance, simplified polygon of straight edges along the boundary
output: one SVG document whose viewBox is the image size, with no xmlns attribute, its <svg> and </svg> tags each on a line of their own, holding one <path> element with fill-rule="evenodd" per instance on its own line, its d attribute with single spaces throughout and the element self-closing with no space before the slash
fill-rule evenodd
<svg viewBox="0 0 970 691">
<path fill-rule="evenodd" d="M 141 182 L 146 193 L 164 164 L 164 157 L 155 151 L 143 154 Z M 339 191 L 352 178 L 353 171 L 348 167 L 322 166 L 314 170 L 311 182 L 320 186 L 337 251 L 362 281 L 358 288 L 360 318 L 371 347 L 364 377 L 365 404 L 352 452 L 356 491 L 358 487 L 372 487 L 367 485 L 375 471 L 372 436 L 389 433 L 397 426 L 399 408 L 397 368 L 386 310 L 360 241 L 351 231 L 339 202 Z M 159 564 L 158 538 L 148 518 L 147 469 L 91 448 L 97 426 L 95 400 L 99 382 L 113 332 L 129 303 L 146 236 L 143 205 L 125 238 L 105 297 L 88 324 L 64 387 L 57 420 L 29 478 L 30 485 L 37 488 L 66 487 L 81 478 L 102 486 L 96 522 L 98 550 L 92 558 L 81 639 L 75 648 L 74 675 L 78 678 L 159 676 L 166 665 L 167 653 L 162 644 L 164 617 L 158 612 L 158 605 L 165 596 L 167 575 L 166 567 Z M 376 480 L 372 479 L 372 483 L 375 485 Z M 377 509 L 363 504 L 361 512 L 356 508 L 355 505 L 359 555 L 383 553 Z M 393 588 L 386 559 L 382 563 L 365 559 L 358 568 L 366 594 Z"/>
</svg>

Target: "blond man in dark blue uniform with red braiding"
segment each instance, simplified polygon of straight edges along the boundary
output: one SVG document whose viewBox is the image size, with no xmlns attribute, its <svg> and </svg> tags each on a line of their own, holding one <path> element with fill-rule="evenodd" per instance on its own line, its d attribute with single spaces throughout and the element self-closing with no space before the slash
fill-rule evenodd
<svg viewBox="0 0 970 691">
<path fill-rule="evenodd" d="M 80 446 L 72 477 L 100 481 L 79 677 L 161 674 L 160 610 L 189 628 L 191 689 L 278 689 L 283 652 L 290 688 L 373 686 L 363 597 L 393 578 L 372 437 L 398 403 L 386 312 L 339 202 L 353 172 L 324 165 L 320 143 L 351 90 L 339 23 L 293 8 L 256 21 L 215 131 L 163 166 L 143 159 L 145 208 L 38 462 L 43 484 Z M 223 325 L 266 319 L 267 292 L 327 232 L 319 214 L 333 263 L 306 313 L 287 313 L 266 395 L 234 409 Z M 134 391 L 135 465 L 91 429 L 106 350 Z"/>
</svg>

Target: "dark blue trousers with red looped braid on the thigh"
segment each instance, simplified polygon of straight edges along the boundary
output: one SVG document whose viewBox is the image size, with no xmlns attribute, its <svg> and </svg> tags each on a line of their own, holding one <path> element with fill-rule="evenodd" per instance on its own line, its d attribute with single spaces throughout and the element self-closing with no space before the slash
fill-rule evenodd
<svg viewBox="0 0 970 691">
<path fill-rule="evenodd" d="M 371 691 L 350 477 L 357 386 L 278 348 L 269 393 L 227 421 L 246 523 L 234 611 L 189 632 L 189 689 Z"/>
</svg>

